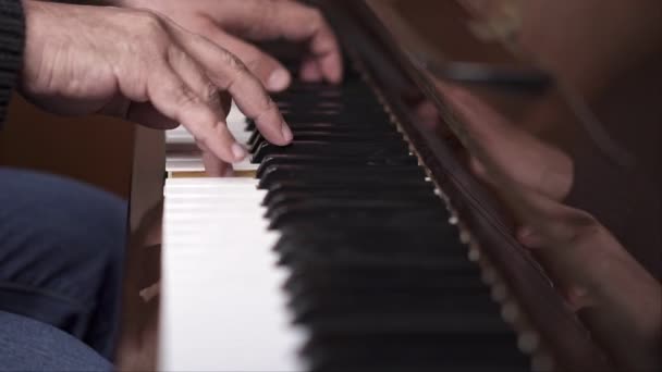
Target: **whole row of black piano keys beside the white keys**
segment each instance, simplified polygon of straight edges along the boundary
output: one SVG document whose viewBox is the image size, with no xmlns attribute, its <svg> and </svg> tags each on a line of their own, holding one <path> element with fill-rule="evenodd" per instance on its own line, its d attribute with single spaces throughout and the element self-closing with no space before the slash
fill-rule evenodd
<svg viewBox="0 0 662 372">
<path fill-rule="evenodd" d="M 296 74 L 301 52 L 274 55 Z M 436 186 L 358 72 L 348 65 L 340 85 L 295 78 L 272 98 L 293 145 L 246 128 L 311 370 L 528 370 Z"/>
</svg>

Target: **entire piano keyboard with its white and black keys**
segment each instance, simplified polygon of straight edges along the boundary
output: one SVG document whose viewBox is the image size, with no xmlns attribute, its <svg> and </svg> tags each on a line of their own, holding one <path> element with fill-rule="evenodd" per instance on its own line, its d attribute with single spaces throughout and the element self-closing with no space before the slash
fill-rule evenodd
<svg viewBox="0 0 662 372">
<path fill-rule="evenodd" d="M 274 95 L 290 147 L 229 121 L 256 178 L 167 181 L 162 370 L 529 370 L 436 186 L 347 75 Z"/>
</svg>

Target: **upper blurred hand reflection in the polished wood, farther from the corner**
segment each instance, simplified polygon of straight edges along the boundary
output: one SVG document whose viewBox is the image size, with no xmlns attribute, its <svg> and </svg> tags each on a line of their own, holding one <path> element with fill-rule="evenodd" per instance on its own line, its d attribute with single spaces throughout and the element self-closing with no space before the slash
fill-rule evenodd
<svg viewBox="0 0 662 372">
<path fill-rule="evenodd" d="M 500 182 L 516 184 L 557 201 L 568 195 L 573 161 L 567 154 L 510 123 L 465 90 L 439 80 L 437 87 L 461 119 L 462 126 L 449 123 L 450 129 L 468 149 L 471 170 L 482 182 L 493 187 Z M 427 126 L 433 125 L 433 117 L 440 120 L 431 102 L 421 103 L 418 114 Z"/>
</svg>

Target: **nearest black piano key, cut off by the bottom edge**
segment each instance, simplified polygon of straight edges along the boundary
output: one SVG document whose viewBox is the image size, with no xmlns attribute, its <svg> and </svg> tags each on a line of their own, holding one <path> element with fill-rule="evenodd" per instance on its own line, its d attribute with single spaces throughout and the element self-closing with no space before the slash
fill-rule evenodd
<svg viewBox="0 0 662 372">
<path fill-rule="evenodd" d="M 312 371 L 529 371 L 511 334 L 315 335 Z"/>
</svg>

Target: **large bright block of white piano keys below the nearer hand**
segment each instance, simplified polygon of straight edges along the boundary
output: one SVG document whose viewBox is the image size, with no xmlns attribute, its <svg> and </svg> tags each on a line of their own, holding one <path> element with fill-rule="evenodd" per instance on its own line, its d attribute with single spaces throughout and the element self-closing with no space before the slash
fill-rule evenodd
<svg viewBox="0 0 662 372">
<path fill-rule="evenodd" d="M 271 251 L 265 191 L 249 178 L 170 178 L 164 188 L 159 368 L 299 371 L 305 335 L 293 327 Z"/>
</svg>

